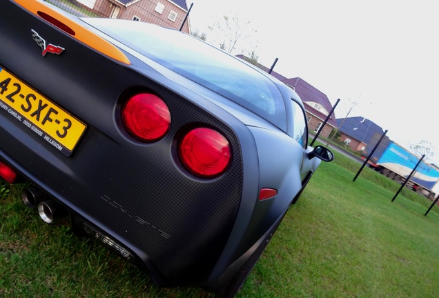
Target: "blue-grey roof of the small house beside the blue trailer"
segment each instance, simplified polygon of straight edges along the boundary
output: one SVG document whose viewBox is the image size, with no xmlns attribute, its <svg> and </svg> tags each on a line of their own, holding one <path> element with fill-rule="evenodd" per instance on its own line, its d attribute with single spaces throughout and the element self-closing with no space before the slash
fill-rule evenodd
<svg viewBox="0 0 439 298">
<path fill-rule="evenodd" d="M 337 119 L 338 125 L 342 123 L 339 130 L 357 141 L 365 143 L 367 146 L 374 146 L 384 133 L 380 126 L 376 125 L 364 117 L 349 117 Z"/>
</svg>

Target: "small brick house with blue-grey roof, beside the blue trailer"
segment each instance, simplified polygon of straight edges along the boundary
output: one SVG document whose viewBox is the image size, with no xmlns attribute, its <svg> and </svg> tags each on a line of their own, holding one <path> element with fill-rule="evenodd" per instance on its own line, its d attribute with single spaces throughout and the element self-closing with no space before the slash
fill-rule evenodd
<svg viewBox="0 0 439 298">
<path fill-rule="evenodd" d="M 364 117 L 337 119 L 340 137 L 353 151 L 372 150 L 384 131 Z"/>
</svg>

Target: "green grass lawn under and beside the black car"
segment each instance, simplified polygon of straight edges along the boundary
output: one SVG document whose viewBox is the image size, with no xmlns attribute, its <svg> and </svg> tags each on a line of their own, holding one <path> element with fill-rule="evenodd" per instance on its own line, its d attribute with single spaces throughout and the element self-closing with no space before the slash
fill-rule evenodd
<svg viewBox="0 0 439 298">
<path fill-rule="evenodd" d="M 439 206 L 336 154 L 292 206 L 237 297 L 438 297 Z M 0 297 L 213 297 L 157 288 L 68 221 L 0 185 Z"/>
</svg>

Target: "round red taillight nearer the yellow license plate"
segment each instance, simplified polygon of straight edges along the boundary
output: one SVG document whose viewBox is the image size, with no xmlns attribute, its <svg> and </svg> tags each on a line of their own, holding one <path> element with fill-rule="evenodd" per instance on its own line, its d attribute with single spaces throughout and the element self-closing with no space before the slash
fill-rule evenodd
<svg viewBox="0 0 439 298">
<path fill-rule="evenodd" d="M 122 119 L 130 135 L 140 141 L 162 139 L 170 126 L 168 106 L 156 95 L 148 93 L 131 97 L 122 108 Z"/>
</svg>

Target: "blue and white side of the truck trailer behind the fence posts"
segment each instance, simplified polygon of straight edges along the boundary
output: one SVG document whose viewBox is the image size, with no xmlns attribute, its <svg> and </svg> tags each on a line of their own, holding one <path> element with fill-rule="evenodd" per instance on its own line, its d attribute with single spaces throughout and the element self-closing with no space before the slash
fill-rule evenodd
<svg viewBox="0 0 439 298">
<path fill-rule="evenodd" d="M 398 172 L 404 175 L 404 177 L 407 178 L 418 161 L 419 159 L 410 152 L 392 142 L 386 150 L 384 150 L 378 163 L 393 172 Z M 438 179 L 439 171 L 424 162 L 422 162 L 421 166 L 418 167 L 416 174 L 411 178 L 413 182 L 416 182 L 427 189 L 431 189 Z"/>
</svg>

